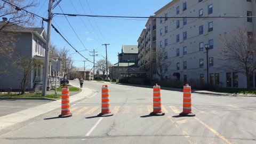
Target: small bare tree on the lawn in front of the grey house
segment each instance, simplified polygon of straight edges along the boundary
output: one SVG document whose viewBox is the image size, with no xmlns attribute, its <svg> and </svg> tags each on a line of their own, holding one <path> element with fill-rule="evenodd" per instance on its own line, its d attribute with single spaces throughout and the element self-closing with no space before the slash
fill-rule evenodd
<svg viewBox="0 0 256 144">
<path fill-rule="evenodd" d="M 38 65 L 39 64 L 42 65 L 42 62 L 31 57 L 21 57 L 19 54 L 16 54 L 16 55 L 17 55 L 17 58 L 14 58 L 9 63 L 5 63 L 5 66 L 1 68 L 0 72 L 17 78 L 20 83 L 21 94 L 24 94 L 30 82 L 29 77 L 30 77 L 31 71 L 35 71 L 36 69 L 38 69 Z M 11 69 L 18 69 L 18 70 L 11 70 Z"/>
</svg>

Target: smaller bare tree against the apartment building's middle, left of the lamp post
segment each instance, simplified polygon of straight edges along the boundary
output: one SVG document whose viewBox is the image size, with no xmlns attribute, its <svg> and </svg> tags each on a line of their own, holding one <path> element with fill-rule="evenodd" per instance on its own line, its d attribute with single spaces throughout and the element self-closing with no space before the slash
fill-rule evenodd
<svg viewBox="0 0 256 144">
<path fill-rule="evenodd" d="M 165 48 L 159 48 L 155 51 L 155 67 L 156 74 L 164 79 L 165 74 L 167 74 L 168 68 L 171 66 L 171 61 L 165 58 Z"/>
</svg>

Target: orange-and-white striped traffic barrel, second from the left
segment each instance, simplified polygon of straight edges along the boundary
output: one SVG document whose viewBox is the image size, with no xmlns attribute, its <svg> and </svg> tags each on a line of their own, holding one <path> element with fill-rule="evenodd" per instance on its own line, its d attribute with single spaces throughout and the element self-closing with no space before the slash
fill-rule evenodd
<svg viewBox="0 0 256 144">
<path fill-rule="evenodd" d="M 110 112 L 108 86 L 102 85 L 102 87 L 101 87 L 101 113 L 98 116 L 113 116 L 113 115 L 114 114 Z"/>
</svg>

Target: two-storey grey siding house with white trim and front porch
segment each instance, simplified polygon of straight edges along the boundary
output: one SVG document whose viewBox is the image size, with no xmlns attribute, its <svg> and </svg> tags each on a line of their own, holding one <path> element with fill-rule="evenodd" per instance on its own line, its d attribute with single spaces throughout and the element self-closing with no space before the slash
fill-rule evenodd
<svg viewBox="0 0 256 144">
<path fill-rule="evenodd" d="M 0 27 L 4 24 L 5 21 L 0 22 Z M 7 30 L 3 29 L 3 35 L 8 35 L 10 33 L 17 33 L 15 35 L 15 41 L 13 42 L 14 52 L 13 54 L 18 54 L 21 57 L 31 57 L 40 60 L 44 63 L 44 53 L 46 45 L 46 32 L 44 28 L 25 28 L 17 25 L 9 27 Z M 14 55 L 15 56 L 15 55 Z M 13 57 L 15 58 L 15 57 Z M 0 53 L 0 66 L 4 66 L 6 63 L 13 61 L 13 58 L 6 58 Z M 52 61 L 58 61 L 57 55 L 50 54 L 49 60 L 49 76 L 47 87 L 48 89 L 51 86 L 55 85 L 55 75 L 57 78 L 57 87 L 60 86 L 59 74 L 54 74 L 52 71 Z M 31 71 L 29 76 L 29 84 L 27 89 L 37 89 L 38 91 L 42 89 L 43 82 L 43 66 L 39 65 L 38 69 Z M 14 67 L 9 67 L 9 70 L 12 71 L 17 77 L 22 77 L 22 71 Z M 19 89 L 20 83 L 17 78 L 12 75 L 6 75 L 5 73 L 0 73 L 0 89 Z"/>
</svg>

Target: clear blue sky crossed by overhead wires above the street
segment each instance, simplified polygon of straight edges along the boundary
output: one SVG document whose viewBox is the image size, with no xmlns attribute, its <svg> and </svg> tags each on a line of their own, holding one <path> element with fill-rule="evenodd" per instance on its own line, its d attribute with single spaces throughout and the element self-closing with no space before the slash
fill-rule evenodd
<svg viewBox="0 0 256 144">
<path fill-rule="evenodd" d="M 47 18 L 47 8 L 49 0 L 39 1 L 40 5 L 33 11 L 44 18 Z M 149 17 L 161 9 L 164 5 L 171 1 L 166 0 L 62 0 L 60 7 L 64 13 L 69 14 L 87 14 L 87 15 L 113 15 L 113 16 L 135 16 Z M 55 2 L 56 3 L 56 2 Z M 82 4 L 82 5 L 81 5 Z M 53 13 L 62 13 L 59 6 L 55 7 Z M 74 8 L 75 7 L 75 8 Z M 92 17 L 65 17 L 56 15 L 53 18 L 53 25 L 60 33 L 79 51 L 85 58 L 93 61 L 90 56 L 95 50 L 98 57 L 95 61 L 106 58 L 105 46 L 102 44 L 110 44 L 107 46 L 108 60 L 117 63 L 117 54 L 121 52 L 122 45 L 137 45 L 137 40 L 143 28 L 145 28 L 147 19 L 128 20 L 124 18 L 92 18 Z M 38 23 L 41 27 L 41 23 Z M 47 23 L 44 23 L 47 27 Z M 79 41 L 82 41 L 82 43 Z M 51 41 L 58 47 L 67 47 L 70 55 L 75 61 L 76 67 L 84 66 L 84 58 L 75 53 L 72 49 L 53 29 L 51 33 Z M 93 63 L 86 61 L 86 68 L 92 68 Z"/>
</svg>

